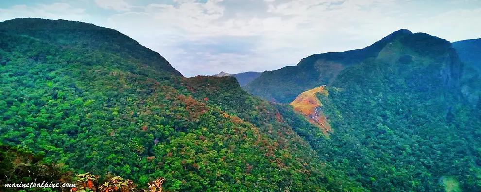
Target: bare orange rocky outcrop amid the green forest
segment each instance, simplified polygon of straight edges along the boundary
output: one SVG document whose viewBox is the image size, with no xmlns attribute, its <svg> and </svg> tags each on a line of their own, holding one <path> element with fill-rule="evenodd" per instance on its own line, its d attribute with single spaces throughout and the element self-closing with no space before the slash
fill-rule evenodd
<svg viewBox="0 0 481 192">
<path fill-rule="evenodd" d="M 316 87 L 298 95 L 290 105 L 294 107 L 295 111 L 304 115 L 311 124 L 319 127 L 325 136 L 329 136 L 333 130 L 323 113 L 322 103 L 317 98 L 317 94 L 328 96 L 329 92 L 325 85 Z"/>
</svg>

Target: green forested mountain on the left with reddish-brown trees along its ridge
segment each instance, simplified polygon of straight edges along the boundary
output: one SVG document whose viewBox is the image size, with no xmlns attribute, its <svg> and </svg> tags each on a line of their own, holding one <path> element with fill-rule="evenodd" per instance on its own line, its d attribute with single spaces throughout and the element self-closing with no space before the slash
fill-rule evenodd
<svg viewBox="0 0 481 192">
<path fill-rule="evenodd" d="M 51 165 L 101 175 L 99 183 L 120 175 L 139 187 L 162 177 L 166 191 L 365 191 L 298 135 L 316 130 L 288 123 L 300 118 L 291 109 L 283 116 L 233 77 L 184 78 L 115 30 L 1 22 L 0 61 L 0 141 L 42 156 L 15 161 L 45 168 L 32 173 Z M 16 153 L 9 149 L 1 159 Z M 11 177 L 0 183 L 34 180 L 29 167 L 2 164 Z"/>
</svg>

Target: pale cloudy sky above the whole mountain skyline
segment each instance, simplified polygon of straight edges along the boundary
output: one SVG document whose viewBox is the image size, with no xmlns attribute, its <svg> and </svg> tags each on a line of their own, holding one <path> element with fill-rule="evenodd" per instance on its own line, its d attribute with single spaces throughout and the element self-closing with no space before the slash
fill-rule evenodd
<svg viewBox="0 0 481 192">
<path fill-rule="evenodd" d="M 481 38 L 481 0 L 0 0 L 0 21 L 22 17 L 116 29 L 187 77 L 276 70 L 399 29 Z"/>
</svg>

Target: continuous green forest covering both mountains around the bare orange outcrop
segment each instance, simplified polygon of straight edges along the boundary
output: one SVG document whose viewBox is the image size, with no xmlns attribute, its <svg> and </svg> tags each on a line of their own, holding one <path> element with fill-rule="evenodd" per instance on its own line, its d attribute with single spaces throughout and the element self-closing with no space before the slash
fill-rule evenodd
<svg viewBox="0 0 481 192">
<path fill-rule="evenodd" d="M 1 184 L 36 174 L 82 190 L 481 191 L 481 106 L 466 97 L 477 74 L 427 34 L 312 55 L 246 86 L 289 103 L 326 84 L 315 96 L 329 137 L 234 77 L 184 78 L 115 30 L 15 19 L 0 37 L 0 141 L 13 146 L 0 151 Z"/>
</svg>

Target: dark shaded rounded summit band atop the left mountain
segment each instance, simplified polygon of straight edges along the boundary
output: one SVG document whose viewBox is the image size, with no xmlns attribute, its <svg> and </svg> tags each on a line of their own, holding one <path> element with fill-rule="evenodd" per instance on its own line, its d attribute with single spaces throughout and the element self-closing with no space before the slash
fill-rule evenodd
<svg viewBox="0 0 481 192">
<path fill-rule="evenodd" d="M 159 53 L 140 45 L 136 40 L 117 30 L 91 23 L 41 18 L 17 18 L 0 22 L 0 32 L 33 37 L 43 43 L 78 49 L 101 49 L 103 52 L 133 58 L 142 64 L 182 74 Z M 82 46 L 79 46 L 79 45 Z"/>
</svg>

